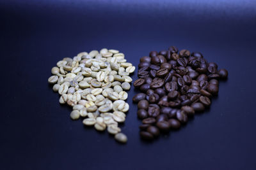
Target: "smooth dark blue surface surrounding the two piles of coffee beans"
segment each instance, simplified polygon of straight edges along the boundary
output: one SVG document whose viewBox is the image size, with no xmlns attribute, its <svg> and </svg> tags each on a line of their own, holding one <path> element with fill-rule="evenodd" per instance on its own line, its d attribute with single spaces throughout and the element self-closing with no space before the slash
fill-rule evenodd
<svg viewBox="0 0 256 170">
<path fill-rule="evenodd" d="M 256 169 L 255 9 L 238 0 L 1 1 L 1 169 Z M 70 120 L 47 84 L 63 57 L 116 48 L 138 66 L 170 45 L 202 52 L 229 77 L 211 110 L 154 143 L 139 138 L 133 88 L 129 141 L 119 145 Z"/>
</svg>

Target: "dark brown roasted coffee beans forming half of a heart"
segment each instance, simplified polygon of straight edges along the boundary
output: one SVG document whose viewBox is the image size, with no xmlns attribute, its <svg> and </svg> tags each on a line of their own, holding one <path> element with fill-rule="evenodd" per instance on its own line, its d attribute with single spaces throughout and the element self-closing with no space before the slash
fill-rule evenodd
<svg viewBox="0 0 256 170">
<path fill-rule="evenodd" d="M 175 46 L 141 57 L 133 83 L 141 93 L 132 99 L 142 120 L 141 138 L 154 139 L 186 124 L 188 117 L 211 105 L 211 97 L 218 95 L 218 80 L 227 76 L 226 69 L 207 62 L 202 53 L 179 52 Z"/>
</svg>

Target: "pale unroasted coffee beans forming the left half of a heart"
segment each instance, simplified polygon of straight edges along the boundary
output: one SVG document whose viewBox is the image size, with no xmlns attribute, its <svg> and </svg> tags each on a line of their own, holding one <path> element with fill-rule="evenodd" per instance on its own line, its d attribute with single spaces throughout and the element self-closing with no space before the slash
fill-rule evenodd
<svg viewBox="0 0 256 170">
<path fill-rule="evenodd" d="M 52 67 L 48 82 L 60 94 L 60 103 L 73 108 L 72 120 L 84 118 L 84 125 L 94 126 L 97 131 L 108 129 L 116 141 L 126 143 L 127 136 L 118 123 L 125 121 L 129 110 L 125 90 L 131 88 L 129 74 L 134 70 L 124 53 L 103 48 L 60 60 Z"/>
</svg>

